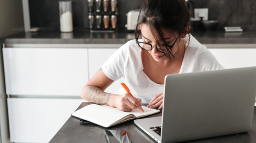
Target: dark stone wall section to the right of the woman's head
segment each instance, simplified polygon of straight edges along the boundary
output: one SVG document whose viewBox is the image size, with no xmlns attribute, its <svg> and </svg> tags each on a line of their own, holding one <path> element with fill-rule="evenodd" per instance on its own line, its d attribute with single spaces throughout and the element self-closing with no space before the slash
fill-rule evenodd
<svg viewBox="0 0 256 143">
<path fill-rule="evenodd" d="M 242 26 L 256 29 L 256 0 L 193 0 L 196 8 L 209 8 L 208 19 L 218 20 L 218 28 Z"/>
</svg>

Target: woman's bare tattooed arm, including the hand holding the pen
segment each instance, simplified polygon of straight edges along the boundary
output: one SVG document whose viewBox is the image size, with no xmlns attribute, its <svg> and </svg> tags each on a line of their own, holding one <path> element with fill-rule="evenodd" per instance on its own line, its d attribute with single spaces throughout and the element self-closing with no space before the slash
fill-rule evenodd
<svg viewBox="0 0 256 143">
<path fill-rule="evenodd" d="M 110 80 L 100 69 L 84 85 L 81 91 L 81 97 L 89 102 L 100 105 L 116 107 L 122 111 L 131 111 L 132 109 L 141 109 L 141 99 L 133 98 L 128 93 L 122 95 L 106 93 L 104 90 L 114 81 Z"/>
</svg>

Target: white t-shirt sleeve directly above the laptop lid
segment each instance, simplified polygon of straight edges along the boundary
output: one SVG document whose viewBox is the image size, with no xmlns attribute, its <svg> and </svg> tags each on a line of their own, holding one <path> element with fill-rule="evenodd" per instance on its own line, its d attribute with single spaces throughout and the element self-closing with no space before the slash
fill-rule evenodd
<svg viewBox="0 0 256 143">
<path fill-rule="evenodd" d="M 221 70 L 225 69 L 218 60 L 214 57 L 214 55 L 203 46 L 202 50 L 197 53 L 198 58 L 198 70 L 199 71 L 214 71 L 214 70 Z"/>
</svg>

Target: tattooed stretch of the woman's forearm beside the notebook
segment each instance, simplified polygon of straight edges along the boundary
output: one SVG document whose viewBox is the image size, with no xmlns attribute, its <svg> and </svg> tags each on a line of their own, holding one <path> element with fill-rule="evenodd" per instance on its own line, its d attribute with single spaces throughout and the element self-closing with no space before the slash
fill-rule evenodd
<svg viewBox="0 0 256 143">
<path fill-rule="evenodd" d="M 100 105 L 108 105 L 108 101 L 110 98 L 110 93 L 105 93 L 102 89 L 96 86 L 89 86 L 85 90 L 85 96 L 88 101 L 91 101 Z"/>
</svg>

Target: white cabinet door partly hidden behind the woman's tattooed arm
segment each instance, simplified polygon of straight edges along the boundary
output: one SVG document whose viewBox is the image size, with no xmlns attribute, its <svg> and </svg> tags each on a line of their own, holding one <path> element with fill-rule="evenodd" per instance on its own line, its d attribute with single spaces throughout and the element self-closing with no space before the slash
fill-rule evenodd
<svg viewBox="0 0 256 143">
<path fill-rule="evenodd" d="M 116 51 L 117 49 L 106 48 L 93 48 L 88 49 L 88 63 L 89 63 L 89 78 L 102 67 L 103 63 Z M 105 92 L 115 93 L 119 88 L 122 88 L 120 83 L 124 82 L 124 79 L 119 79 L 106 88 Z"/>
</svg>

